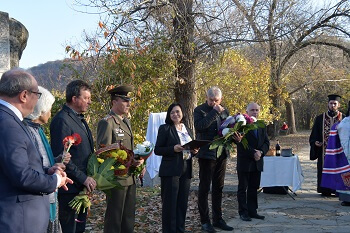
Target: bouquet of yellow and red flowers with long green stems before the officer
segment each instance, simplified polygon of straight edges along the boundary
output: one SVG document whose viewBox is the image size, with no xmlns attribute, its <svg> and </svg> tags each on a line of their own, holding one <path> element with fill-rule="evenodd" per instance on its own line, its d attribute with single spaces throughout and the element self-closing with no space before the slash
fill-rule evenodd
<svg viewBox="0 0 350 233">
<path fill-rule="evenodd" d="M 124 176 L 128 173 L 133 160 L 133 152 L 119 145 L 119 143 L 102 147 L 92 154 L 88 161 L 87 174 L 96 181 L 96 189 L 103 191 L 107 196 L 111 189 L 122 188 L 116 176 Z M 89 193 L 84 188 L 69 206 L 78 214 L 85 212 L 91 206 Z"/>
</svg>

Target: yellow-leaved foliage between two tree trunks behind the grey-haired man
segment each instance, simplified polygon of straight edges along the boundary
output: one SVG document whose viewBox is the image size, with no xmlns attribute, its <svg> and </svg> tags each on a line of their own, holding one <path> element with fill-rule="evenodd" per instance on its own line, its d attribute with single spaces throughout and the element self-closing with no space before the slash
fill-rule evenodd
<svg viewBox="0 0 350 233">
<path fill-rule="evenodd" d="M 246 112 L 250 102 L 261 106 L 259 118 L 271 121 L 269 98 L 270 70 L 267 62 L 252 64 L 236 50 L 226 51 L 213 65 L 198 65 L 198 89 L 202 93 L 198 98 L 205 101 L 206 91 L 211 86 L 218 86 L 223 93 L 223 104 L 231 115 Z"/>
</svg>

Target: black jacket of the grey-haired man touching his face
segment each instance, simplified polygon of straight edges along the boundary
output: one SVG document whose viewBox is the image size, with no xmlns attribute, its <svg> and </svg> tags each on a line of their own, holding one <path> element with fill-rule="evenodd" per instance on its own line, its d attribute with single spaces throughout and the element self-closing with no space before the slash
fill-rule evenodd
<svg viewBox="0 0 350 233">
<path fill-rule="evenodd" d="M 225 109 L 221 114 L 210 107 L 207 102 L 197 106 L 194 109 L 194 128 L 196 130 L 196 139 L 213 140 L 218 135 L 218 129 L 223 120 L 229 116 L 229 112 Z M 197 157 L 202 159 L 216 159 L 215 150 L 209 150 L 210 144 L 200 148 Z M 227 156 L 229 152 L 223 151 L 221 156 Z"/>
</svg>

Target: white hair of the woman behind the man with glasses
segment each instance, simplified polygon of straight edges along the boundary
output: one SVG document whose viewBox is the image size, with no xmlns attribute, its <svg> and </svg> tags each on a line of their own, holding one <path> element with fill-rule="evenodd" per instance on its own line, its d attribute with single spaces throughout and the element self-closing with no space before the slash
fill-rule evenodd
<svg viewBox="0 0 350 233">
<path fill-rule="evenodd" d="M 27 116 L 31 120 L 38 119 L 41 115 L 47 113 L 51 110 L 53 103 L 55 102 L 55 97 L 45 88 L 39 86 L 39 92 L 41 92 L 41 97 L 38 99 L 34 107 L 32 114 Z"/>
</svg>

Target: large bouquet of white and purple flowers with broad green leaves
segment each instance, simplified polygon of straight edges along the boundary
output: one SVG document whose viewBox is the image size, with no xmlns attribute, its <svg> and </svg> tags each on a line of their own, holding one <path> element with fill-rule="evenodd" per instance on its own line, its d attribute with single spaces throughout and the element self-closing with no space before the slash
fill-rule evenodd
<svg viewBox="0 0 350 233">
<path fill-rule="evenodd" d="M 262 120 L 257 120 L 255 117 L 251 117 L 247 114 L 237 113 L 234 116 L 229 116 L 221 124 L 219 128 L 219 135 L 212 141 L 209 149 L 218 148 L 218 156 L 221 155 L 224 148 L 233 151 L 233 135 L 235 132 L 239 132 L 243 135 L 241 143 L 244 148 L 248 148 L 248 141 L 245 138 L 245 135 L 250 130 L 255 130 L 258 128 L 264 128 L 265 123 Z"/>
</svg>

